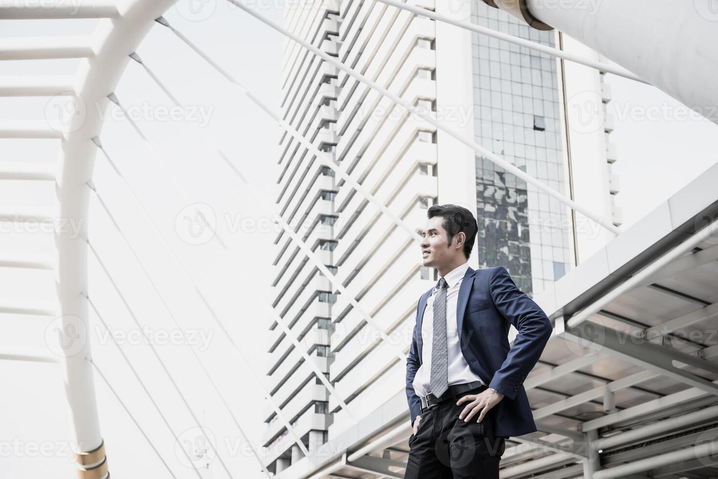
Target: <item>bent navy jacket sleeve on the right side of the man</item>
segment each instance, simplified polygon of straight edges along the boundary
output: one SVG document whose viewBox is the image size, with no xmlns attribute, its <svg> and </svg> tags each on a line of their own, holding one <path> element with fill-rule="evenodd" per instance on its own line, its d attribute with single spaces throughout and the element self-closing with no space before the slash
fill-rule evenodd
<svg viewBox="0 0 718 479">
<path fill-rule="evenodd" d="M 513 400 L 521 383 L 541 358 L 553 333 L 553 326 L 541 307 L 516 287 L 503 266 L 493 271 L 489 290 L 498 311 L 518 330 L 513 346 L 489 387 Z"/>
</svg>

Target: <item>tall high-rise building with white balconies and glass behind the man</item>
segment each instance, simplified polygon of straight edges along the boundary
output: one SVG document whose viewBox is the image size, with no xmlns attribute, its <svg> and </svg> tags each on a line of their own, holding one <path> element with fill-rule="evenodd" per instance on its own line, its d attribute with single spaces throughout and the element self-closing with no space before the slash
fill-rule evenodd
<svg viewBox="0 0 718 479">
<path fill-rule="evenodd" d="M 480 2 L 462 3 L 456 11 L 434 0 L 409 3 L 559 46 L 556 32 L 532 30 Z M 577 129 L 577 112 L 568 108 L 595 98 L 595 107 L 603 108 L 610 100 L 595 70 L 578 68 L 574 82 L 552 57 L 378 1 L 299 2 L 286 7 L 284 27 L 556 190 L 576 197 L 586 182 L 599 192 L 598 200 L 591 197 L 592 209 L 614 215 L 615 152 L 605 136 L 610 126 L 600 118 L 597 127 L 579 121 Z M 432 204 L 476 211 L 472 267 L 503 265 L 521 289 L 537 294 L 580 260 L 582 241 L 605 241 L 602 231 L 584 238 L 576 227 L 580 215 L 559 201 L 291 40 L 281 61 L 284 119 L 416 231 Z M 310 457 L 304 460 L 268 407 L 264 460 L 281 477 L 300 478 L 332 459 L 325 442 L 346 450 L 364 444 L 372 432 L 408 422 L 401 355 L 411 342 L 416 302 L 438 278 L 422 266 L 406 231 L 292 136 L 283 134 L 280 145 L 278 212 L 350 292 L 338 294 L 288 235 L 277 235 L 274 307 L 349 407 L 342 409 L 272 325 L 271 393 Z M 572 152 L 582 155 L 576 172 Z"/>
</svg>

